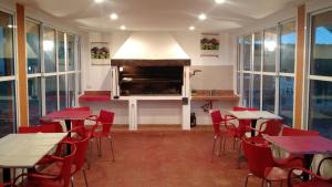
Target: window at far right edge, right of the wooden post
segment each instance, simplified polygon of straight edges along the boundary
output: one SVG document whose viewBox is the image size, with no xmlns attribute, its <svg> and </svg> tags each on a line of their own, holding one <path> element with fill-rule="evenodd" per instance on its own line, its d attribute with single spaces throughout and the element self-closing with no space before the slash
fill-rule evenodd
<svg viewBox="0 0 332 187">
<path fill-rule="evenodd" d="M 311 17 L 310 129 L 332 138 L 332 11 Z"/>
</svg>

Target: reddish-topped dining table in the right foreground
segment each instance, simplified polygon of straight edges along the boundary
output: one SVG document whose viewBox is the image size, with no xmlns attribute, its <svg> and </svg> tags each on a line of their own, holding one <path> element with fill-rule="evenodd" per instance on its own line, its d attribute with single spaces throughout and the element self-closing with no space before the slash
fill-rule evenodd
<svg viewBox="0 0 332 187">
<path fill-rule="evenodd" d="M 315 154 L 332 154 L 332 139 L 322 136 L 269 136 L 263 138 L 292 155 L 303 155 L 303 166 L 310 169 Z M 304 180 L 309 175 L 303 176 Z"/>
</svg>

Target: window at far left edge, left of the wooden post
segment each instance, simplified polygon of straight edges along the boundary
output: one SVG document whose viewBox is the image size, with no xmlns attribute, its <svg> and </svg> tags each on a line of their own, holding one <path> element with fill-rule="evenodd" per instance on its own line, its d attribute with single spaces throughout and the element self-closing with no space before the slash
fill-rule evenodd
<svg viewBox="0 0 332 187">
<path fill-rule="evenodd" d="M 13 15 L 0 11 L 0 137 L 17 125 Z"/>
</svg>

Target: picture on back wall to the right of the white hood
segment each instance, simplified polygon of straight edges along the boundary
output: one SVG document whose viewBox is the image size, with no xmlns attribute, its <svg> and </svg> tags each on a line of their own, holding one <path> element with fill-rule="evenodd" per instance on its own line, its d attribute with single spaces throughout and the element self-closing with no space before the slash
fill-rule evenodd
<svg viewBox="0 0 332 187">
<path fill-rule="evenodd" d="M 218 33 L 200 34 L 200 56 L 219 58 L 219 34 Z"/>
</svg>

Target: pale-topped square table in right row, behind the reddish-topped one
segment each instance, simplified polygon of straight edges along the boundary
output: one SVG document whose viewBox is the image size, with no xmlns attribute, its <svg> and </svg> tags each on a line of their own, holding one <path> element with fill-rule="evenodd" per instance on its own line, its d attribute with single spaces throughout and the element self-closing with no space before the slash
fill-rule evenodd
<svg viewBox="0 0 332 187">
<path fill-rule="evenodd" d="M 258 120 L 282 120 L 279 115 L 268 111 L 228 111 L 228 113 L 238 120 L 251 120 L 251 127 L 256 128 Z M 251 129 L 251 137 L 255 136 L 255 129 Z"/>
</svg>

